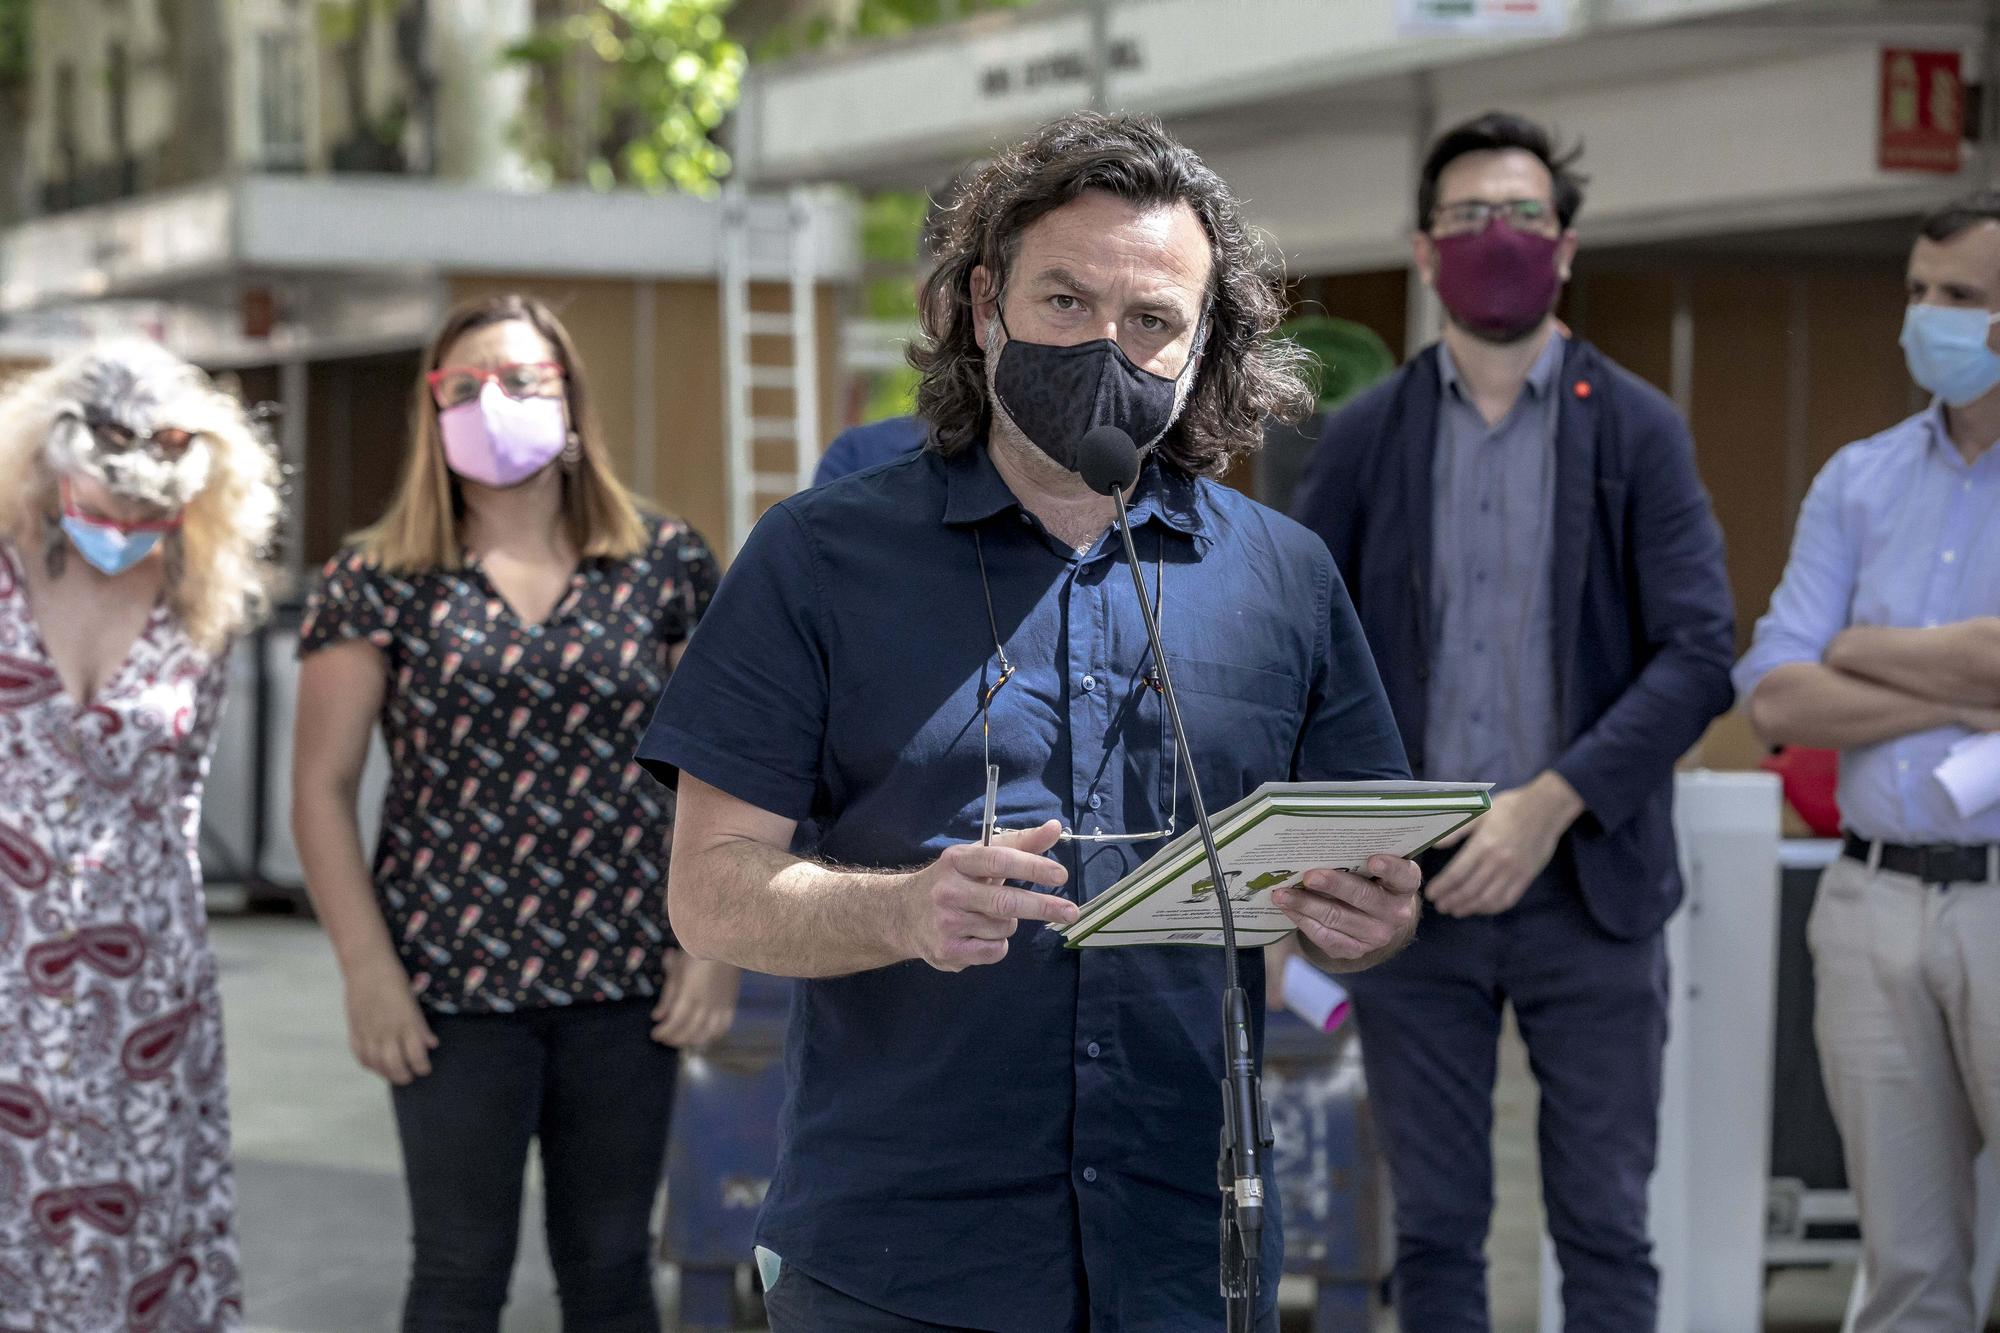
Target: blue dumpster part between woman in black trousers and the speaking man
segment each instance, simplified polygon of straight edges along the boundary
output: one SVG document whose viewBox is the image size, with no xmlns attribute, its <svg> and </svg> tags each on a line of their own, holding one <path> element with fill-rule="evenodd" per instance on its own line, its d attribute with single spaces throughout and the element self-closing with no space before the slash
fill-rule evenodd
<svg viewBox="0 0 2000 1333">
<path fill-rule="evenodd" d="M 730 1035 L 680 1059 L 666 1151 L 662 1257 L 680 1267 L 680 1327 L 740 1327 L 738 1273 L 778 1167 L 790 981 L 744 973 Z"/>
</svg>

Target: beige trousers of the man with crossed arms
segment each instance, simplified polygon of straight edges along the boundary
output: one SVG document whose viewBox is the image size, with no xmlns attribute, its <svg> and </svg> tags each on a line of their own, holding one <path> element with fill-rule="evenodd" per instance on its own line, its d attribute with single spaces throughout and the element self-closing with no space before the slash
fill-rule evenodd
<svg viewBox="0 0 2000 1333">
<path fill-rule="evenodd" d="M 1968 1333 L 1972 1167 L 2000 1135 L 2000 883 L 1940 889 L 1842 857 L 1806 939 L 1868 1251 L 1856 1333 Z"/>
</svg>

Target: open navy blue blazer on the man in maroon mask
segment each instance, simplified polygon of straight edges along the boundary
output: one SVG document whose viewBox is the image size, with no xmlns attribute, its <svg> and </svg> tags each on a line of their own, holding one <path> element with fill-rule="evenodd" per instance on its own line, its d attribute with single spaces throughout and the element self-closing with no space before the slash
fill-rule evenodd
<svg viewBox="0 0 2000 1333">
<path fill-rule="evenodd" d="M 1582 340 L 1558 392 L 1554 769 L 1588 811 L 1552 869 L 1604 931 L 1640 939 L 1680 905 L 1674 763 L 1734 699 L 1736 612 L 1694 440 L 1666 396 Z M 1334 552 L 1416 767 L 1440 394 L 1432 346 L 1326 424 L 1292 506 Z"/>
</svg>

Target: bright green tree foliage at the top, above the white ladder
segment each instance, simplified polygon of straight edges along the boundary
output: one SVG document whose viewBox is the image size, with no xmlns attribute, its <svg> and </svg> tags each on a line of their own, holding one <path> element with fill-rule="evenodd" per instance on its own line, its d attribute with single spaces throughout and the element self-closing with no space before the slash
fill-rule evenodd
<svg viewBox="0 0 2000 1333">
<path fill-rule="evenodd" d="M 712 194 L 730 158 L 710 138 L 742 90 L 732 0 L 594 0 L 514 46 L 536 66 L 528 152 L 554 178 Z M 564 148 L 562 126 L 578 150 Z"/>
</svg>

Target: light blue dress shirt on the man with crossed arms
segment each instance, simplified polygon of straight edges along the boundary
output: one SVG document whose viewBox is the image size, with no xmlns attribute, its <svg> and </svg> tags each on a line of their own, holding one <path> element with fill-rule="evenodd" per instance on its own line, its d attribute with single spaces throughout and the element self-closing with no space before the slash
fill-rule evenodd
<svg viewBox="0 0 2000 1333">
<path fill-rule="evenodd" d="M 1918 628 L 2000 614 L 2000 448 L 1966 464 L 1944 408 L 1848 444 L 1798 512 L 1792 558 L 1750 652 L 1736 662 L 1748 701 L 1772 669 L 1818 662 L 1850 624 Z M 1960 819 L 1934 769 L 1960 727 L 1840 757 L 1840 813 L 1868 839 L 2000 843 L 2000 807 Z"/>
</svg>

